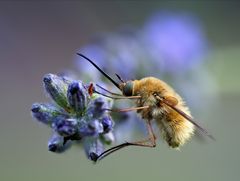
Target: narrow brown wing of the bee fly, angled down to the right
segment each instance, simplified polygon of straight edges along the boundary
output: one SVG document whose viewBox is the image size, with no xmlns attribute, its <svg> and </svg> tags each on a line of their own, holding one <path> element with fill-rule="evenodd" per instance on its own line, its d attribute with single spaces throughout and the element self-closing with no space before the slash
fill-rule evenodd
<svg viewBox="0 0 240 181">
<path fill-rule="evenodd" d="M 183 116 L 184 118 L 186 118 L 188 121 L 190 121 L 194 126 L 196 126 L 202 133 L 204 133 L 205 135 L 207 135 L 209 138 L 211 138 L 212 140 L 216 140 L 211 134 L 208 133 L 208 131 L 206 129 L 204 129 L 203 127 L 201 127 L 196 121 L 193 120 L 193 118 L 189 115 L 187 115 L 185 112 L 181 111 L 180 109 L 176 108 L 175 106 L 169 104 L 167 101 L 165 101 L 164 99 L 162 100 L 162 102 L 164 104 L 166 104 L 167 106 L 171 107 L 173 110 L 175 110 L 178 114 L 180 114 L 181 116 Z"/>
</svg>

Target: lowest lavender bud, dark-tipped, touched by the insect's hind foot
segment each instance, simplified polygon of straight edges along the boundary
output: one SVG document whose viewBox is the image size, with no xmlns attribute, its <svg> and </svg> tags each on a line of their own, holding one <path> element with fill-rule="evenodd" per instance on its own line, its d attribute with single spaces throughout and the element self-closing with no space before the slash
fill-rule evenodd
<svg viewBox="0 0 240 181">
<path fill-rule="evenodd" d="M 97 157 L 104 151 L 102 142 L 94 137 L 85 137 L 83 146 L 88 159 L 92 161 L 97 161 Z"/>
</svg>

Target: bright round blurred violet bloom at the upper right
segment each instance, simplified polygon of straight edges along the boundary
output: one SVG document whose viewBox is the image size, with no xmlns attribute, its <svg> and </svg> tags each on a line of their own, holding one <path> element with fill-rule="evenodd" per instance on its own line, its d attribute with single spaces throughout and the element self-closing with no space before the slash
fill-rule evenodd
<svg viewBox="0 0 240 181">
<path fill-rule="evenodd" d="M 162 71 L 191 68 L 208 46 L 198 19 L 187 13 L 156 13 L 145 23 L 142 34 L 147 51 Z"/>
</svg>

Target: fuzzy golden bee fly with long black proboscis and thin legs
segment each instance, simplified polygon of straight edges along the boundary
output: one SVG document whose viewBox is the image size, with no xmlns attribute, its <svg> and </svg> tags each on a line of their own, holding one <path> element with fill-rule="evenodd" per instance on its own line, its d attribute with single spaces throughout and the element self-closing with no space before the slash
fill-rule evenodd
<svg viewBox="0 0 240 181">
<path fill-rule="evenodd" d="M 193 120 L 189 108 L 186 106 L 181 96 L 178 95 L 166 82 L 155 77 L 123 81 L 121 77 L 116 74 L 118 79 L 121 81 L 121 83 L 117 83 L 107 73 L 100 69 L 92 60 L 80 53 L 77 53 L 77 55 L 90 62 L 122 92 L 122 94 L 112 93 L 97 85 L 101 89 L 117 97 L 104 95 L 96 90 L 94 91 L 95 93 L 115 99 L 136 99 L 136 107 L 110 111 L 127 112 L 136 110 L 147 124 L 147 139 L 136 142 L 125 142 L 123 144 L 114 146 L 100 154 L 96 158 L 96 161 L 106 157 L 112 152 L 130 145 L 155 147 L 156 136 L 152 129 L 152 120 L 156 121 L 163 139 L 172 148 L 178 148 L 179 146 L 183 145 L 191 138 L 195 129 L 200 130 L 211 139 L 214 139 L 212 135 L 210 135 L 204 128 L 202 128 Z"/>
</svg>

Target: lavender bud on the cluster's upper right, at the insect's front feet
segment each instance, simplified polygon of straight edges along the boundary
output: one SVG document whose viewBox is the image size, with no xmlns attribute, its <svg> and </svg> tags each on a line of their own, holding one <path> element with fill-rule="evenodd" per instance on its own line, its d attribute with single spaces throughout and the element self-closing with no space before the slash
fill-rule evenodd
<svg viewBox="0 0 240 181">
<path fill-rule="evenodd" d="M 108 103 L 106 99 L 102 97 L 97 97 L 91 100 L 87 110 L 87 115 L 92 118 L 102 117 L 103 114 L 106 112 L 106 108 L 108 108 Z"/>
</svg>

